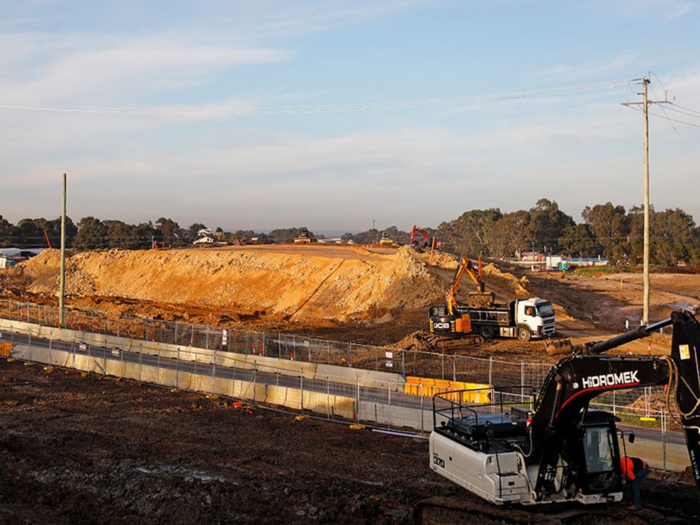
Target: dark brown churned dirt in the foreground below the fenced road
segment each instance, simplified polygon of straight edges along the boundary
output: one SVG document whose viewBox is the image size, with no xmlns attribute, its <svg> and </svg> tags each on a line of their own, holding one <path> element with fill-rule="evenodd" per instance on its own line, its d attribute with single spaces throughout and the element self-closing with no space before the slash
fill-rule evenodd
<svg viewBox="0 0 700 525">
<path fill-rule="evenodd" d="M 9 525 L 698 519 L 696 489 L 678 476 L 645 481 L 636 513 L 497 509 L 432 473 L 425 440 L 4 359 L 0 407 L 0 522 Z"/>
</svg>

